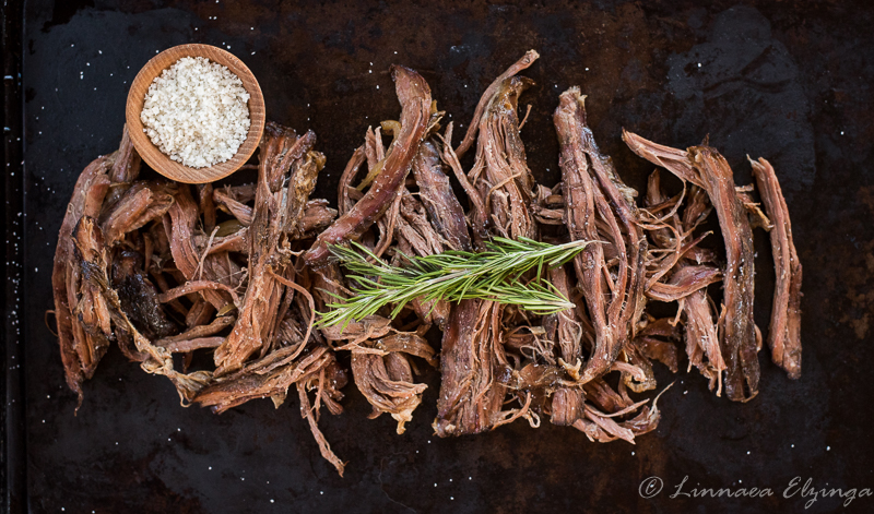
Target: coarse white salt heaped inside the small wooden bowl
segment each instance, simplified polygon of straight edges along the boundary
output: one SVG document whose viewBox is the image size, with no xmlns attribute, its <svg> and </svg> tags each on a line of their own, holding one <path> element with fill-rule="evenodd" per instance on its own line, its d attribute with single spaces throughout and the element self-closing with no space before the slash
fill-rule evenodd
<svg viewBox="0 0 874 514">
<path fill-rule="evenodd" d="M 140 119 L 173 160 L 203 168 L 232 158 L 249 132 L 249 94 L 226 67 L 184 57 L 156 76 Z"/>
</svg>

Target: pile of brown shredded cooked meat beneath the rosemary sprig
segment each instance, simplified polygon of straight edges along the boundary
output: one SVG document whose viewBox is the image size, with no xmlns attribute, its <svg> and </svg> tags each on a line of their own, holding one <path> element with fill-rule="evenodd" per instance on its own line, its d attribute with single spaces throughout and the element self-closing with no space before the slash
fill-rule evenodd
<svg viewBox="0 0 874 514">
<path fill-rule="evenodd" d="M 425 80 L 393 67 L 400 119 L 367 129 L 340 179 L 336 210 L 310 199 L 326 164 L 312 132 L 269 123 L 257 164 L 236 182 L 201 186 L 141 179 L 125 132 L 117 152 L 80 176 L 55 256 L 61 358 L 80 405 L 83 381 L 117 344 L 143 370 L 169 379 L 182 404 L 215 413 L 265 397 L 279 407 L 294 387 L 341 475 L 344 464 L 318 421 L 322 406 L 342 411 L 350 372 L 371 417 L 390 415 L 398 433 L 422 402 L 429 366 L 441 378 L 433 423 L 440 437 L 547 418 L 593 441 L 634 442 L 660 418 L 654 399 L 633 397 L 657 390 L 653 362 L 677 372 L 685 352 L 688 370 L 717 395 L 746 402 L 757 394 L 756 227 L 770 232 L 777 277 L 771 357 L 799 378 L 801 263 L 770 164 L 751 160 L 763 211 L 754 186 L 737 187 L 707 143 L 683 151 L 624 132 L 630 150 L 659 167 L 638 201 L 599 151 L 584 97 L 572 87 L 554 115 L 562 181 L 539 184 L 518 112 L 532 83 L 518 73 L 538 57 L 529 51 L 486 88 L 458 146 Z M 682 181 L 681 192 L 663 189 L 664 170 Z M 456 196 L 452 179 L 465 198 Z M 713 239 L 704 230 L 713 213 L 723 244 L 701 246 Z M 356 241 L 402 266 L 408 255 L 479 251 L 497 236 L 595 241 L 572 264 L 544 271 L 576 308 L 534 315 L 483 299 L 423 300 L 394 319 L 386 310 L 346 326 L 316 323 L 329 303 L 354 295 L 334 244 Z M 654 316 L 657 304 L 662 312 L 675 304 L 675 314 Z M 436 331 L 439 348 L 428 337 L 439 339 Z"/>
</svg>

